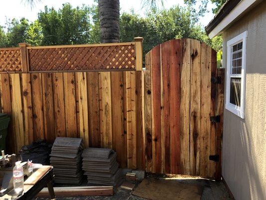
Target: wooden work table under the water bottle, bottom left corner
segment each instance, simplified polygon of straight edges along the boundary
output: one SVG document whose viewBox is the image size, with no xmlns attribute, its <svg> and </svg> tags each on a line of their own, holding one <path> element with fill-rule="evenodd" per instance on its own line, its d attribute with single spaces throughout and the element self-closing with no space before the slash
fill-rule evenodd
<svg viewBox="0 0 266 200">
<path fill-rule="evenodd" d="M 33 173 L 25 179 L 24 190 L 22 193 L 17 194 L 13 189 L 7 192 L 5 195 L 1 196 L 2 200 L 11 199 L 32 199 L 34 198 L 40 190 L 44 187 L 48 187 L 51 199 L 54 196 L 54 190 L 52 186 L 53 180 L 53 169 L 52 166 L 43 166 L 33 171 Z"/>
</svg>

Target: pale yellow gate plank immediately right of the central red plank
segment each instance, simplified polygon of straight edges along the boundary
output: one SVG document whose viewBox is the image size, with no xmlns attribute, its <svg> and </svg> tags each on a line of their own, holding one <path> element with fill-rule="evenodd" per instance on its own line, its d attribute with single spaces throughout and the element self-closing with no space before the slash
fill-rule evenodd
<svg viewBox="0 0 266 200">
<path fill-rule="evenodd" d="M 180 147 L 181 174 L 190 174 L 190 39 L 181 39 Z"/>
</svg>

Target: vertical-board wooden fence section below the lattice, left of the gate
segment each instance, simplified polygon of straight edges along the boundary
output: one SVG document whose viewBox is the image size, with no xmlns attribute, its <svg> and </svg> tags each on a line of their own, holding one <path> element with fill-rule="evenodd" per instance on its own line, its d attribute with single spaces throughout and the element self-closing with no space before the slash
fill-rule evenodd
<svg viewBox="0 0 266 200">
<path fill-rule="evenodd" d="M 143 79 L 142 71 L 0 74 L 1 111 L 12 118 L 8 152 L 81 137 L 114 148 L 121 167 L 145 169 Z"/>
</svg>

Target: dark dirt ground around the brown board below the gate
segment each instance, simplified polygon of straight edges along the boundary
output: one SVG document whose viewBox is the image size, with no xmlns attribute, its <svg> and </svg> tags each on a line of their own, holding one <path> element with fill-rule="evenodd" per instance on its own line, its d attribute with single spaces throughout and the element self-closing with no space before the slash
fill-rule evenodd
<svg viewBox="0 0 266 200">
<path fill-rule="evenodd" d="M 178 182 L 184 184 L 198 184 L 204 187 L 201 200 L 230 200 L 229 192 L 222 181 L 214 181 L 201 177 L 195 176 L 184 176 L 184 175 L 151 175 L 155 178 L 169 178 L 175 179 Z M 136 183 L 137 185 L 138 183 Z M 48 199 L 48 198 L 47 198 Z M 57 200 L 144 200 L 132 194 L 132 191 L 122 189 L 120 187 L 114 189 L 113 196 L 76 196 L 76 197 L 58 197 Z M 163 198 L 162 198 L 163 199 Z M 36 200 L 46 200 L 45 198 L 36 198 Z"/>
</svg>

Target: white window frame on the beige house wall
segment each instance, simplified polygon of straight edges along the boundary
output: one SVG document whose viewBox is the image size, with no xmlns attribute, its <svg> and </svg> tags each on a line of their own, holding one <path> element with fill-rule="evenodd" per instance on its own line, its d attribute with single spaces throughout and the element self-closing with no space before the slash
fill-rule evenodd
<svg viewBox="0 0 266 200">
<path fill-rule="evenodd" d="M 247 47 L 247 36 L 248 31 L 242 32 L 238 36 L 230 39 L 227 42 L 227 81 L 226 81 L 226 109 L 233 112 L 234 114 L 245 118 L 245 90 L 246 90 L 246 47 Z M 237 43 L 243 42 L 242 47 L 242 69 L 241 75 L 231 75 L 231 62 L 232 62 L 232 52 L 231 47 Z M 231 77 L 241 77 L 241 99 L 240 106 L 230 103 L 230 84 Z"/>
</svg>

